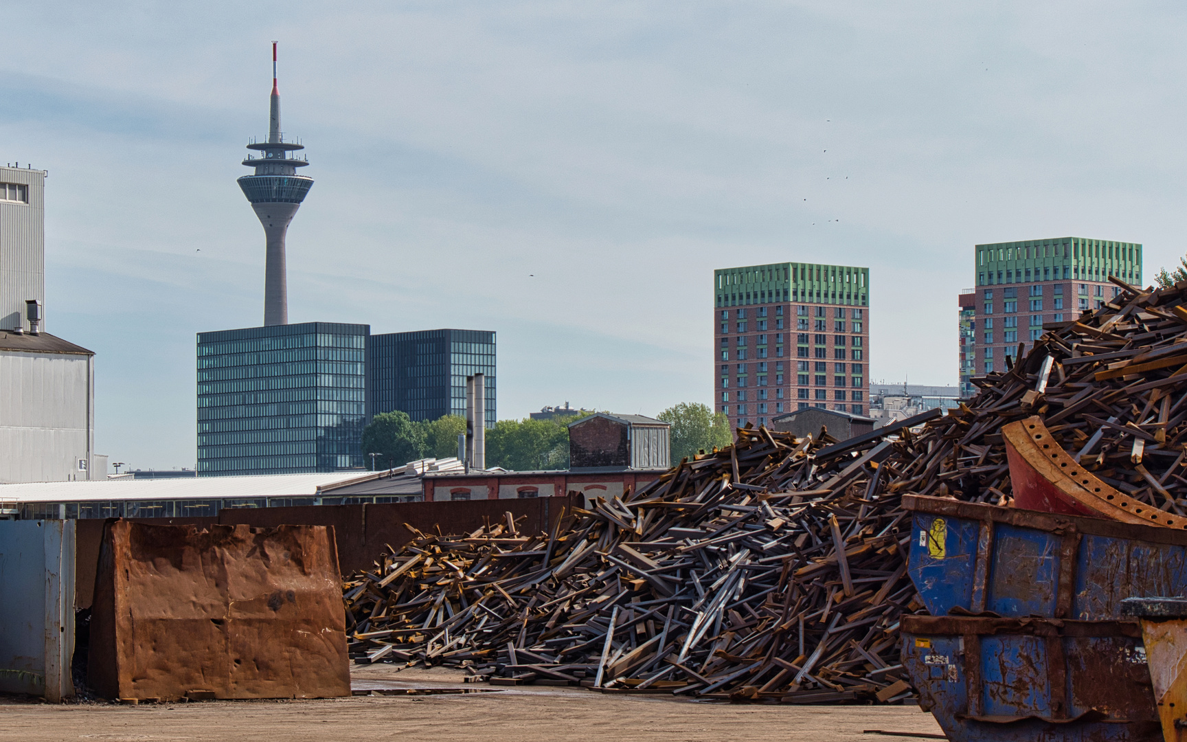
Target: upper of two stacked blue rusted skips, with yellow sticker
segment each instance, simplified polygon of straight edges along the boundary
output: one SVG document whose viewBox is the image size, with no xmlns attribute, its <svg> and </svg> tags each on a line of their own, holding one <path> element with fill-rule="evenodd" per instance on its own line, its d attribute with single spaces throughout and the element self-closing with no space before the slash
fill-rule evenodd
<svg viewBox="0 0 1187 742">
<path fill-rule="evenodd" d="M 1129 597 L 1187 595 L 1187 532 L 903 496 L 908 570 L 933 616 L 1122 617 Z"/>
</svg>

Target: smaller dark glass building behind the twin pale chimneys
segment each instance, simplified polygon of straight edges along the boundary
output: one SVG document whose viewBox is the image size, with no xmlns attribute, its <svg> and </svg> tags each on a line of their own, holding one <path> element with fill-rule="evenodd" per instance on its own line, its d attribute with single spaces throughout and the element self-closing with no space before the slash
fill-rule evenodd
<svg viewBox="0 0 1187 742">
<path fill-rule="evenodd" d="M 487 426 L 495 424 L 495 334 L 421 330 L 372 335 L 370 416 L 402 410 L 413 420 L 465 417 L 465 378 L 485 374 Z"/>
</svg>

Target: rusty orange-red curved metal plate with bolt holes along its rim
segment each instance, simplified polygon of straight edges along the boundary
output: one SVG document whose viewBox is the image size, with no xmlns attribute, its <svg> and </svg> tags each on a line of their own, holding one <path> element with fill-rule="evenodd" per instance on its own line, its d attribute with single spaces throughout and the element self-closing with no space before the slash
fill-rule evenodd
<svg viewBox="0 0 1187 742">
<path fill-rule="evenodd" d="M 1004 425 L 1002 437 L 1015 507 L 1187 529 L 1187 518 L 1135 500 L 1087 471 L 1055 443 L 1037 416 Z"/>
</svg>

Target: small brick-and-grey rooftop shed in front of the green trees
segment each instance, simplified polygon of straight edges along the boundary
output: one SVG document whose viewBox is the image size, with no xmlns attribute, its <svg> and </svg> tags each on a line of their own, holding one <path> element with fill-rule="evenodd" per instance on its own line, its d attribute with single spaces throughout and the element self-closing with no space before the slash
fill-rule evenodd
<svg viewBox="0 0 1187 742">
<path fill-rule="evenodd" d="M 671 429 L 641 414 L 596 412 L 569 424 L 569 467 L 666 469 L 672 465 Z"/>
</svg>

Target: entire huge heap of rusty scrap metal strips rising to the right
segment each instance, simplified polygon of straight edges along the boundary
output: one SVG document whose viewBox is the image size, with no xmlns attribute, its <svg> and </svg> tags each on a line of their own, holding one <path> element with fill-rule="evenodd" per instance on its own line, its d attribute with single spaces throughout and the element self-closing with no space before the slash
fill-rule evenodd
<svg viewBox="0 0 1187 742">
<path fill-rule="evenodd" d="M 1187 395 L 1172 395 L 1187 382 L 1182 300 L 1183 287 L 1125 287 L 1048 325 L 942 417 L 843 443 L 744 429 L 547 534 L 519 533 L 509 516 L 468 535 L 417 532 L 347 582 L 351 655 L 500 683 L 787 703 L 909 696 L 899 616 L 921 603 L 900 499 L 1007 503 L 1002 425 L 1039 414 L 1109 483 L 1187 507 Z"/>
</svg>

